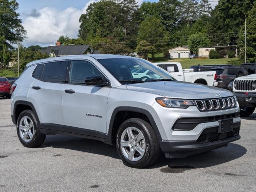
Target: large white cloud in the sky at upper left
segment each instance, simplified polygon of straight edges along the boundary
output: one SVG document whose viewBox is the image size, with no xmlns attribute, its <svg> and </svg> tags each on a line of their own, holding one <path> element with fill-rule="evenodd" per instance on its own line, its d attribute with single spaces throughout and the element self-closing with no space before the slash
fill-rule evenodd
<svg viewBox="0 0 256 192">
<path fill-rule="evenodd" d="M 87 7 L 96 1 L 88 1 L 81 10 L 73 7 L 66 8 L 63 11 L 52 7 L 33 10 L 37 14 L 31 14 L 23 22 L 28 37 L 24 44 L 26 46 L 36 44 L 46 46 L 54 44 L 60 35 L 77 38 L 81 14 L 85 13 Z"/>
</svg>

